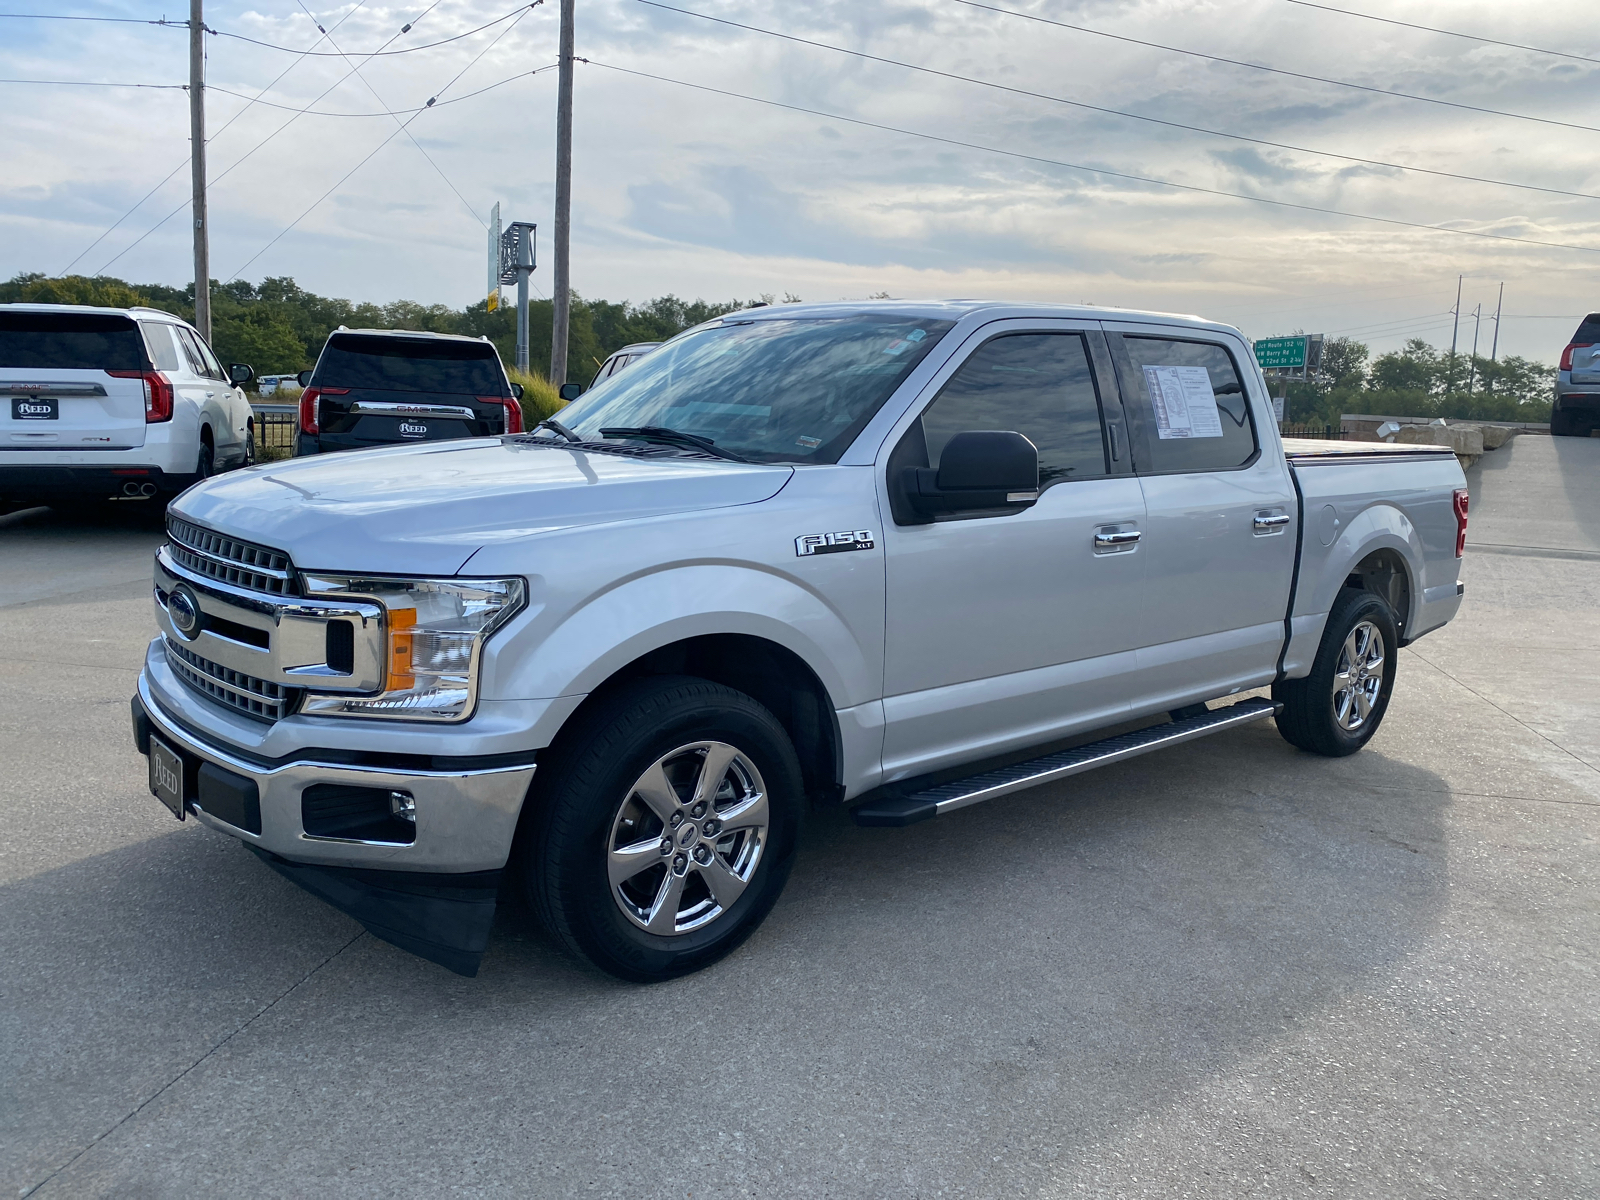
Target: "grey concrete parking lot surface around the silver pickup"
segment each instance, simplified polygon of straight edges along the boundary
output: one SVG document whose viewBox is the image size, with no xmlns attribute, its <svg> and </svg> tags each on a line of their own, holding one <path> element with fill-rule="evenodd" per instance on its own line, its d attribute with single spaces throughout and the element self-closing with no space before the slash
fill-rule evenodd
<svg viewBox="0 0 1600 1200">
<path fill-rule="evenodd" d="M 811 821 L 717 966 L 477 979 L 149 795 L 149 517 L 0 518 L 13 1195 L 1600 1194 L 1600 438 L 1469 472 L 1467 600 L 1342 760 L 1270 722 Z"/>
</svg>

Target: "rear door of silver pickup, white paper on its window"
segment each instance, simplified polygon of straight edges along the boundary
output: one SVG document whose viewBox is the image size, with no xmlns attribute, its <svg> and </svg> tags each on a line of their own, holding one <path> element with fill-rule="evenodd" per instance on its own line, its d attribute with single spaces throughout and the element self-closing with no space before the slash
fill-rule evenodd
<svg viewBox="0 0 1600 1200">
<path fill-rule="evenodd" d="M 1136 678 L 1162 712 L 1277 674 L 1299 541 L 1266 397 L 1242 342 L 1107 325 L 1144 493 L 1149 590 Z"/>
</svg>

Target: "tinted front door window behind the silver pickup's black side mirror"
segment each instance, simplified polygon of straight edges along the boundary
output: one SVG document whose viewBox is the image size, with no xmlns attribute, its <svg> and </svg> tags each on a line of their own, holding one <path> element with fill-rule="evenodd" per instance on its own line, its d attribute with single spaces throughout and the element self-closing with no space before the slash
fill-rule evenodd
<svg viewBox="0 0 1600 1200">
<path fill-rule="evenodd" d="M 984 342 L 922 414 L 928 466 L 973 429 L 1008 429 L 1038 446 L 1038 486 L 1106 474 L 1099 397 L 1077 333 L 1011 333 Z"/>
</svg>

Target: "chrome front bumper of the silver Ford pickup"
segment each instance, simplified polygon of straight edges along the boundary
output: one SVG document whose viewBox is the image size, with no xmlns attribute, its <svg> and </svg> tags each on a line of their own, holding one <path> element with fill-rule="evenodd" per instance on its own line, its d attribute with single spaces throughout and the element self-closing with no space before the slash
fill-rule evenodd
<svg viewBox="0 0 1600 1200">
<path fill-rule="evenodd" d="M 150 733 L 174 749 L 254 781 L 261 797 L 261 832 L 230 826 L 190 802 L 202 824 L 291 862 L 376 870 L 466 874 L 499 870 L 510 854 L 533 763 L 480 770 L 389 770 L 304 760 L 261 763 L 205 741 L 171 720 L 139 672 L 139 704 Z M 301 821 L 301 794 L 314 784 L 344 784 L 408 792 L 416 802 L 416 840 L 358 842 L 312 837 Z"/>
</svg>

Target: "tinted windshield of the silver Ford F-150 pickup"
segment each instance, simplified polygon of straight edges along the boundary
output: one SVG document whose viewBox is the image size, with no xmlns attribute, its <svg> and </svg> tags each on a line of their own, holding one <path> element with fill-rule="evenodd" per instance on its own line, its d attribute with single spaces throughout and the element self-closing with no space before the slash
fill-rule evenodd
<svg viewBox="0 0 1600 1200">
<path fill-rule="evenodd" d="M 630 363 L 558 419 L 586 442 L 648 426 L 757 462 L 837 462 L 952 325 L 898 314 L 730 318 Z"/>
</svg>

